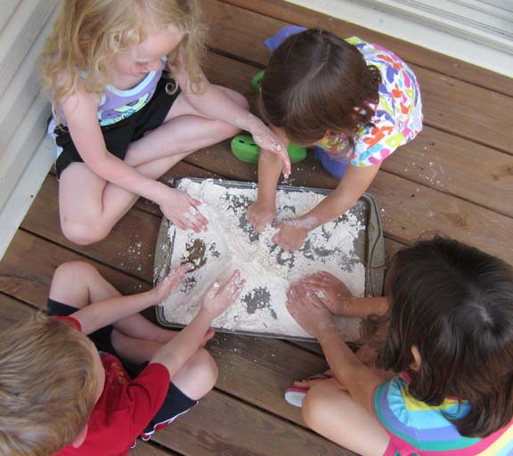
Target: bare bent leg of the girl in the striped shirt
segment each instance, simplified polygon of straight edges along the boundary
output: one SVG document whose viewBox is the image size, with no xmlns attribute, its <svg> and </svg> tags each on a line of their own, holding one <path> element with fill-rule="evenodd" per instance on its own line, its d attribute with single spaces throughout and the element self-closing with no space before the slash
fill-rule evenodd
<svg viewBox="0 0 513 456">
<path fill-rule="evenodd" d="M 320 381 L 308 390 L 303 419 L 315 432 L 362 456 L 380 456 L 389 443 L 378 420 L 337 379 Z"/>
</svg>

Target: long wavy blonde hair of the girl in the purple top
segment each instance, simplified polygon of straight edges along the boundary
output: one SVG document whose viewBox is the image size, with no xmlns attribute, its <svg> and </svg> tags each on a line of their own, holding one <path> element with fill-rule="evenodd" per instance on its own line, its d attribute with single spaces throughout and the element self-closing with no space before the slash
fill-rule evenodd
<svg viewBox="0 0 513 456">
<path fill-rule="evenodd" d="M 110 83 L 112 56 L 141 44 L 149 26 L 183 33 L 167 56 L 168 69 L 182 50 L 183 65 L 198 85 L 205 37 L 199 15 L 198 0 L 65 0 L 41 55 L 43 91 L 54 115 L 59 118 L 59 104 L 80 75 L 88 91 L 101 94 Z"/>
</svg>

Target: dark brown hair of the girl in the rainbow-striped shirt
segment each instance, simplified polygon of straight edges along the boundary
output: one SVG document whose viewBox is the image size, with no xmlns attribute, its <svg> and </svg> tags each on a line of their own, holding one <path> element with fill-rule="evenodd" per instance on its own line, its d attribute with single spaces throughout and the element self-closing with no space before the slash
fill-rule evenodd
<svg viewBox="0 0 513 456">
<path fill-rule="evenodd" d="M 411 375 L 429 405 L 468 401 L 448 419 L 461 436 L 488 436 L 513 418 L 513 270 L 457 240 L 436 237 L 400 250 L 387 276 L 387 340 L 379 365 Z M 410 369 L 411 347 L 421 356 Z"/>
</svg>

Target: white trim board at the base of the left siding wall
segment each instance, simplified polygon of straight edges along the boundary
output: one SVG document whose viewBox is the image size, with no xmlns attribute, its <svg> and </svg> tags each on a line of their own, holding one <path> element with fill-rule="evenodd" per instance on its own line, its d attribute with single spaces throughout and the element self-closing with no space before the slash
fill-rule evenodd
<svg viewBox="0 0 513 456">
<path fill-rule="evenodd" d="M 45 181 L 54 155 L 55 144 L 45 135 L 0 211 L 0 260 Z"/>
</svg>

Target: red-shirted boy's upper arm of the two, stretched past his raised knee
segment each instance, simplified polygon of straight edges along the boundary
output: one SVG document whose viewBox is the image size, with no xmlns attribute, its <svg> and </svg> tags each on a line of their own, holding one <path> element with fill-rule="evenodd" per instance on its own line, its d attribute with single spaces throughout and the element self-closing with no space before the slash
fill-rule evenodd
<svg viewBox="0 0 513 456">
<path fill-rule="evenodd" d="M 84 334 L 91 334 L 95 330 L 100 330 L 159 303 L 183 282 L 185 273 L 190 269 L 191 265 L 182 265 L 169 273 L 166 279 L 154 289 L 136 295 L 111 297 L 85 305 L 72 316 L 80 323 Z"/>
</svg>

